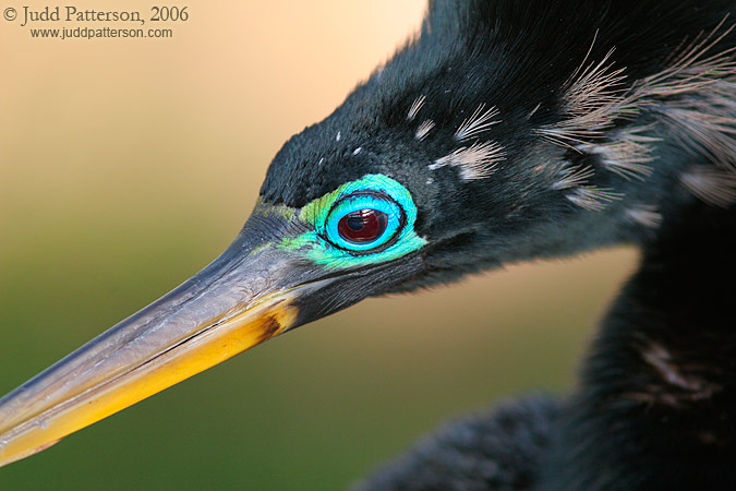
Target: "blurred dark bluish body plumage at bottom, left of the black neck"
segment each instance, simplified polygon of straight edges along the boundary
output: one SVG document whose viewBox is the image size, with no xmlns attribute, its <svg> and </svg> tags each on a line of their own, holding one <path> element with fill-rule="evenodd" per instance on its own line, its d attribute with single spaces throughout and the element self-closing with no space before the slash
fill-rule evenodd
<svg viewBox="0 0 736 491">
<path fill-rule="evenodd" d="M 531 490 L 556 421 L 556 405 L 543 397 L 451 421 L 355 490 Z"/>
</svg>

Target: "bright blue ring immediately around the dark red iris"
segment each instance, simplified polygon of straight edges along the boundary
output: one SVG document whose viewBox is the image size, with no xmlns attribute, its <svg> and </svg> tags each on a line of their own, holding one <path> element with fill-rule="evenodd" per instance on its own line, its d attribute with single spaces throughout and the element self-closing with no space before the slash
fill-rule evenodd
<svg viewBox="0 0 736 491">
<path fill-rule="evenodd" d="M 340 221 L 350 215 L 367 212 L 381 217 L 383 230 L 377 237 L 366 241 L 353 241 L 343 237 Z M 333 246 L 348 252 L 358 255 L 373 254 L 393 246 L 406 224 L 406 213 L 394 199 L 381 191 L 362 190 L 335 202 L 325 219 L 324 238 Z"/>
</svg>

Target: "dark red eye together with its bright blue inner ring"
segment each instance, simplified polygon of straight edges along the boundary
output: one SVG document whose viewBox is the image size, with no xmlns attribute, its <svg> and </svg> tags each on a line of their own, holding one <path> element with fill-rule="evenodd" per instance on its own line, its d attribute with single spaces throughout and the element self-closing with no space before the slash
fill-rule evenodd
<svg viewBox="0 0 736 491">
<path fill-rule="evenodd" d="M 354 252 L 387 246 L 403 227 L 401 207 L 383 193 L 359 192 L 339 200 L 325 221 L 326 239 Z"/>
</svg>

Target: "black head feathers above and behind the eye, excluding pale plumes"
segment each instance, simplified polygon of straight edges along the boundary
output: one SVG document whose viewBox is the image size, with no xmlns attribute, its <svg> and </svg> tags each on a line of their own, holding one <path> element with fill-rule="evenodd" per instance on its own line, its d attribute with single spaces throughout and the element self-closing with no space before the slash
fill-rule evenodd
<svg viewBox="0 0 736 491">
<path fill-rule="evenodd" d="M 570 120 L 563 106 L 566 83 L 576 71 L 601 62 L 612 65 L 608 71 L 625 69 L 625 80 L 584 103 L 592 107 L 575 108 L 591 112 L 605 105 L 605 97 L 666 70 L 678 48 L 714 29 L 732 10 L 733 1 L 431 2 L 418 40 L 361 84 L 325 121 L 286 143 L 268 169 L 262 195 L 267 202 L 302 206 L 364 173 L 398 177 L 424 211 L 418 230 L 433 238 L 433 247 L 425 254 L 422 278 L 394 289 L 446 282 L 532 256 L 641 242 L 650 232 L 625 219 L 625 207 L 653 203 L 654 197 L 660 214 L 679 213 L 692 194 L 671 185 L 673 179 L 707 159 L 693 159 L 681 145 L 673 145 L 669 128 L 653 124 L 643 135 L 662 141 L 649 145 L 657 165 L 650 166 L 648 179 L 595 172 L 587 185 L 627 199 L 612 199 L 603 213 L 580 213 L 565 193 L 551 189 L 554 175 L 565 165 L 602 168 L 602 159 L 574 148 L 578 140 L 591 140 L 584 135 L 552 145 L 539 130 Z M 729 33 L 707 56 L 733 44 Z M 422 96 L 419 120 L 432 119 L 436 130 L 418 141 L 418 122 L 409 123 L 407 111 Z M 427 163 L 459 146 L 454 132 L 481 104 L 497 107 L 502 121 L 480 135 L 505 148 L 504 164 L 496 166 L 493 179 L 463 181 L 457 169 L 431 170 Z M 617 129 L 652 124 L 660 108 L 652 109 L 636 117 L 611 116 L 611 121 L 606 115 L 593 115 L 605 120 L 599 124 L 605 128 L 592 140 L 604 143 L 610 140 L 605 135 Z M 599 123 L 581 119 L 575 131 Z M 341 139 L 336 141 L 338 133 Z M 362 152 L 352 155 L 355 148 Z M 562 223 L 565 227 L 559 227 Z"/>
</svg>

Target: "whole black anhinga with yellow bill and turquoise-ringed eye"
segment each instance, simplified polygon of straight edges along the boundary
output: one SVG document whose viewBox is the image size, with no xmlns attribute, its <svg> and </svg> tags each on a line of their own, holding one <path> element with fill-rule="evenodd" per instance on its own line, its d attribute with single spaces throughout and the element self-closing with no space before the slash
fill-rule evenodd
<svg viewBox="0 0 736 491">
<path fill-rule="evenodd" d="M 359 489 L 736 489 L 735 10 L 431 1 L 285 144 L 222 255 L 2 399 L 0 462 L 369 296 L 635 243 L 569 396 L 460 421 Z"/>
</svg>

